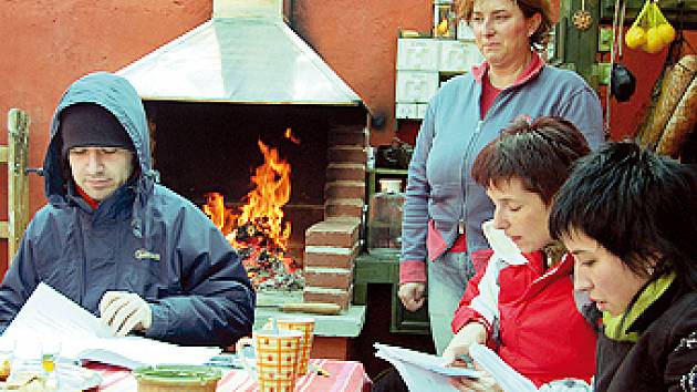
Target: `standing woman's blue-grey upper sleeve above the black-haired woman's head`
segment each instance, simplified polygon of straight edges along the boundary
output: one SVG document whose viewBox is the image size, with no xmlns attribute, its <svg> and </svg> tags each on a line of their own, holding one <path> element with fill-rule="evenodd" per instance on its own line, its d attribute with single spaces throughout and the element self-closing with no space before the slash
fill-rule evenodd
<svg viewBox="0 0 697 392">
<path fill-rule="evenodd" d="M 603 110 L 600 99 L 593 89 L 583 82 L 581 89 L 572 90 L 572 93 L 560 103 L 559 116 L 571 121 L 585 136 L 591 149 L 605 142 L 603 127 Z"/>
</svg>

